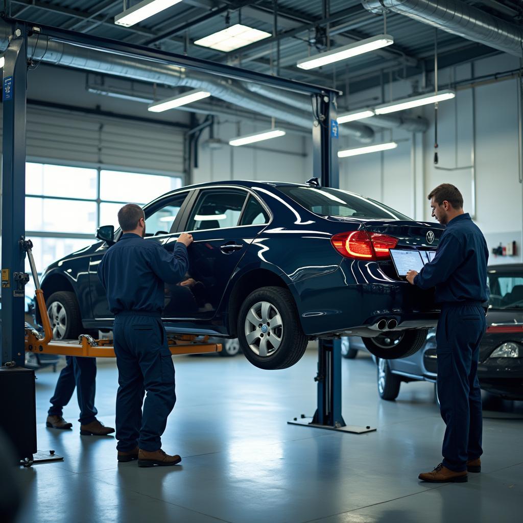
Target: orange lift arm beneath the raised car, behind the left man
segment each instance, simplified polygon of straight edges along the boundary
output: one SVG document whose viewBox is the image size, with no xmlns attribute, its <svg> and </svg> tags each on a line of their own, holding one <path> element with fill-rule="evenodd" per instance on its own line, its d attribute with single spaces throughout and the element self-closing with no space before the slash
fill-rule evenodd
<svg viewBox="0 0 523 523">
<path fill-rule="evenodd" d="M 56 340 L 49 322 L 46 309 L 46 300 L 40 288 L 35 259 L 32 255 L 32 242 L 26 240 L 24 249 L 29 258 L 29 265 L 33 280 L 35 280 L 35 298 L 42 319 L 43 334 L 39 333 L 26 323 L 25 326 L 25 349 L 37 354 L 61 354 L 64 356 L 83 356 L 85 358 L 114 358 L 115 348 L 109 339 L 94 339 L 88 334 L 81 334 L 78 340 Z M 209 336 L 195 336 L 192 334 L 168 335 L 168 345 L 171 354 L 202 354 L 219 353 L 221 344 L 208 343 Z"/>
</svg>

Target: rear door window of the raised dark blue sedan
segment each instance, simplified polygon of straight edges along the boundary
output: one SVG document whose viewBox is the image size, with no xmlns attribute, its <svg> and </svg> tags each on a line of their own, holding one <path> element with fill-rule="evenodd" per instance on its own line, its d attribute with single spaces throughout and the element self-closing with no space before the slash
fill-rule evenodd
<svg viewBox="0 0 523 523">
<path fill-rule="evenodd" d="M 235 227 L 246 197 L 245 191 L 235 189 L 201 191 L 187 223 L 187 231 Z"/>
</svg>

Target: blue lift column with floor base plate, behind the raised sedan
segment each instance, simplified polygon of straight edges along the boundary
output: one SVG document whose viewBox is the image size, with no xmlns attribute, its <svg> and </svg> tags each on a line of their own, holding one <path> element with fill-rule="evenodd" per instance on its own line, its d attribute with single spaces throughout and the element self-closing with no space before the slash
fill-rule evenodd
<svg viewBox="0 0 523 523">
<path fill-rule="evenodd" d="M 312 131 L 314 176 L 322 187 L 339 188 L 339 129 L 335 93 L 315 95 Z M 288 422 L 353 434 L 372 432 L 376 428 L 347 425 L 342 416 L 342 343 L 340 339 L 318 340 L 317 406 L 311 418 L 302 414 Z"/>
</svg>

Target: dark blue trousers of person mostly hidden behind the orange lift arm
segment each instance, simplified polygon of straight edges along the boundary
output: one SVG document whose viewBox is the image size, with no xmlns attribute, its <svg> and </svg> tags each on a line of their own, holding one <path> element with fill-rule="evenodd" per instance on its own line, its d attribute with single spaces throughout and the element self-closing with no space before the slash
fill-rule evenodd
<svg viewBox="0 0 523 523">
<path fill-rule="evenodd" d="M 81 358 L 66 356 L 67 365 L 60 372 L 54 395 L 49 400 L 51 408 L 50 416 L 61 416 L 62 410 L 73 396 L 76 387 L 80 417 L 78 421 L 82 425 L 94 422 L 98 411 L 95 408 L 96 393 L 96 358 Z"/>
</svg>

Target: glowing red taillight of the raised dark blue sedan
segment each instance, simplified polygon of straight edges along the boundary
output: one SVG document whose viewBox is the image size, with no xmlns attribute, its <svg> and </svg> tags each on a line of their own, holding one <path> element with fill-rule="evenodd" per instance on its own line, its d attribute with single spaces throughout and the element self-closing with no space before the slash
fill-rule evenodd
<svg viewBox="0 0 523 523">
<path fill-rule="evenodd" d="M 384 259 L 389 249 L 397 244 L 397 238 L 367 231 L 342 232 L 331 238 L 333 247 L 346 258 L 362 260 Z"/>
</svg>

